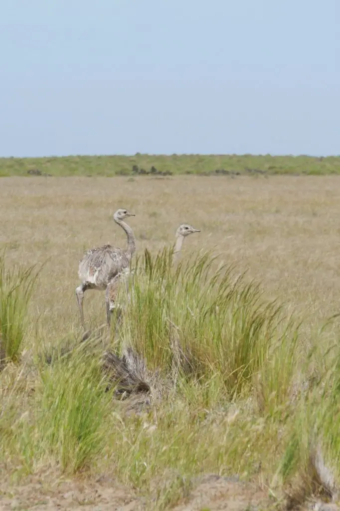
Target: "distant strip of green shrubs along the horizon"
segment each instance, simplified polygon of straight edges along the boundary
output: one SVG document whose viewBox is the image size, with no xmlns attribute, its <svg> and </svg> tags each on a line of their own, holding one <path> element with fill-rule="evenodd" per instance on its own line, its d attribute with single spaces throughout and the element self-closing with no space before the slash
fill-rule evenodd
<svg viewBox="0 0 340 511">
<path fill-rule="evenodd" d="M 134 156 L 0 158 L 0 176 L 340 174 L 340 156 L 136 153 Z"/>
</svg>

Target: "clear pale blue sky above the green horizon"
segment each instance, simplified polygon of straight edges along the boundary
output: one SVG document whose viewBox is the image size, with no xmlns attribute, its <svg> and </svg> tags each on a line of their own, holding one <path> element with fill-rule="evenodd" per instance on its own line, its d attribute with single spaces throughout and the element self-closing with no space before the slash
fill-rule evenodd
<svg viewBox="0 0 340 511">
<path fill-rule="evenodd" d="M 135 152 L 340 154 L 340 1 L 0 1 L 0 156 Z"/>
</svg>

